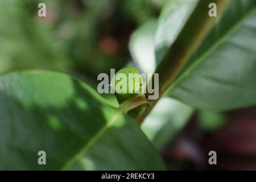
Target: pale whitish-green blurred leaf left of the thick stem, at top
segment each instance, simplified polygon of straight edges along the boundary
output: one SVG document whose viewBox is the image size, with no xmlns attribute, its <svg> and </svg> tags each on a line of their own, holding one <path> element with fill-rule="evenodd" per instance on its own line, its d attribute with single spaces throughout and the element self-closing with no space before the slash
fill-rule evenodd
<svg viewBox="0 0 256 182">
<path fill-rule="evenodd" d="M 197 0 L 167 0 L 159 20 L 148 20 L 131 36 L 130 52 L 141 72 L 152 73 L 195 8 Z"/>
</svg>

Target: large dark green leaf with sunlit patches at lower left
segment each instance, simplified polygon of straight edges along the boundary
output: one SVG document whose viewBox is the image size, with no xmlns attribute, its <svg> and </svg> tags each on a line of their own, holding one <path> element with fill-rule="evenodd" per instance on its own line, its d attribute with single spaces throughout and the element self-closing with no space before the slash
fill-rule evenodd
<svg viewBox="0 0 256 182">
<path fill-rule="evenodd" d="M 1 76 L 0 107 L 0 169 L 164 169 L 137 123 L 66 75 Z"/>
</svg>

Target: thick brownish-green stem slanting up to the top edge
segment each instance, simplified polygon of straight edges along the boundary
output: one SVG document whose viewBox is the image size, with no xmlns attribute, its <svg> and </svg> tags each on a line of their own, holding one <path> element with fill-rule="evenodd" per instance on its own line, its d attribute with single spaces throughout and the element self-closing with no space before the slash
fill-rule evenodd
<svg viewBox="0 0 256 182">
<path fill-rule="evenodd" d="M 201 0 L 198 3 L 174 44 L 168 49 L 162 62 L 156 68 L 155 73 L 159 73 L 159 97 L 156 100 L 148 100 L 147 108 L 138 118 L 139 124 L 143 122 L 156 102 L 172 84 L 177 73 L 179 73 L 184 64 L 199 48 L 230 2 L 230 0 Z M 210 17 L 208 15 L 210 3 L 216 3 L 217 17 Z M 154 76 L 151 78 L 151 81 L 154 81 Z M 147 96 L 148 93 L 146 93 Z"/>
</svg>

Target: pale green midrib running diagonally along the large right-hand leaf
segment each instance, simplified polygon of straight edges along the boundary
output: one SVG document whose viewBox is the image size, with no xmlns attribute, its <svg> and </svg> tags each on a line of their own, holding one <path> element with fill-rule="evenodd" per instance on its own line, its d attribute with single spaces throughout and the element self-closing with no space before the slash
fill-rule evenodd
<svg viewBox="0 0 256 182">
<path fill-rule="evenodd" d="M 228 38 L 229 35 L 233 34 L 233 32 L 235 32 L 238 28 L 240 28 L 242 26 L 242 23 L 252 14 L 254 14 L 256 12 L 255 9 L 252 9 L 250 11 L 248 11 L 248 13 L 240 20 L 237 22 L 237 24 L 235 24 L 232 28 L 230 28 L 230 30 L 228 32 L 226 32 L 226 34 L 224 34 L 222 36 L 222 38 L 218 39 L 216 43 L 214 43 L 212 45 L 212 47 L 210 47 L 208 49 L 208 51 L 206 51 L 205 53 L 203 53 L 203 55 L 201 55 L 197 60 L 194 61 L 193 64 L 191 64 L 186 71 L 184 71 L 183 74 L 180 75 L 179 78 L 177 78 L 177 80 L 175 80 L 173 82 L 173 84 L 171 84 L 170 88 L 168 89 L 168 92 L 171 92 L 171 90 L 173 90 L 177 84 L 179 84 L 179 82 L 181 82 L 182 80 L 184 80 L 185 77 L 187 77 L 189 75 L 189 73 L 191 73 L 193 71 L 193 69 L 195 69 L 197 67 L 197 65 L 199 65 L 200 63 L 202 63 L 206 57 L 208 57 L 214 50 L 216 50 L 218 48 L 218 46 L 220 46 L 223 42 L 225 42 L 226 38 Z"/>
</svg>

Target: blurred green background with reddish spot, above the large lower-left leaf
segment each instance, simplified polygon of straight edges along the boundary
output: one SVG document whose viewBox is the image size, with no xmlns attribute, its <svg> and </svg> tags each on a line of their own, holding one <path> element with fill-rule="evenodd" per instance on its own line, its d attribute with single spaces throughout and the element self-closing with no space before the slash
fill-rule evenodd
<svg viewBox="0 0 256 182">
<path fill-rule="evenodd" d="M 39 18 L 38 3 L 47 5 Z M 159 0 L 0 1 L 0 74 L 50 69 L 91 80 L 130 61 L 136 27 L 159 14 Z"/>
</svg>

